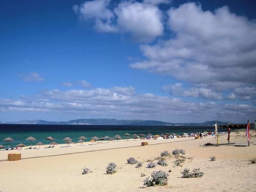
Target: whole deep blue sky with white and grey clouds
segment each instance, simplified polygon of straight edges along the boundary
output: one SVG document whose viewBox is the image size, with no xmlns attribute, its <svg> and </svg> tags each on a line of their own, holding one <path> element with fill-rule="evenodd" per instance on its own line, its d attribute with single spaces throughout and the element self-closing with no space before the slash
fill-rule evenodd
<svg viewBox="0 0 256 192">
<path fill-rule="evenodd" d="M 1 1 L 0 122 L 256 119 L 256 2 Z"/>
</svg>

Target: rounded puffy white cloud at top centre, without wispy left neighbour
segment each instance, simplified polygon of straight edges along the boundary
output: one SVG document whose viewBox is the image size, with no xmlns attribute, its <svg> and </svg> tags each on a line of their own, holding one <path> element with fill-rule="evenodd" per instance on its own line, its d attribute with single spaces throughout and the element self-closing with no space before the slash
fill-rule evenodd
<svg viewBox="0 0 256 192">
<path fill-rule="evenodd" d="M 140 42 L 152 41 L 164 31 L 162 12 L 151 4 L 122 2 L 115 8 L 117 24 Z"/>
</svg>

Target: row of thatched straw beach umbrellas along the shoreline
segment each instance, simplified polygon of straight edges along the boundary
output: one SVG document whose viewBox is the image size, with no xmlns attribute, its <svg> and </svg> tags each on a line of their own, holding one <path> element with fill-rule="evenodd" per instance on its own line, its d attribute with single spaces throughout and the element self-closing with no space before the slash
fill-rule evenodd
<svg viewBox="0 0 256 192">
<path fill-rule="evenodd" d="M 127 139 L 127 140 L 130 139 L 130 137 L 128 137 L 128 136 L 130 136 L 129 133 L 124 133 L 124 135 L 126 136 L 125 139 Z M 152 135 L 152 134 L 151 134 L 151 133 L 148 133 L 147 135 Z M 169 134 L 169 133 L 165 133 L 165 135 L 170 135 L 170 134 Z M 133 136 L 133 138 L 137 138 L 139 135 L 133 134 L 132 136 Z M 144 134 L 140 134 L 140 136 L 144 137 L 145 135 L 144 135 Z M 164 136 L 164 134 L 161 134 L 160 136 Z M 116 138 L 117 140 L 118 140 L 118 139 L 119 139 L 119 140 L 122 139 L 122 137 L 121 137 L 120 135 L 115 135 L 114 138 Z M 51 137 L 51 136 L 46 137 L 45 139 L 50 141 L 50 145 L 51 145 L 51 144 L 53 144 L 53 145 L 57 145 L 57 144 L 58 144 L 58 143 L 56 143 L 56 142 L 52 142 L 52 141 L 54 141 L 55 139 L 54 139 L 53 137 Z M 86 139 L 87 139 L 86 137 L 81 136 L 81 137 L 79 137 L 79 140 L 78 140 L 77 142 L 79 142 L 79 143 L 82 144 L 82 143 L 84 143 L 84 140 L 86 140 Z M 106 140 L 110 140 L 110 141 L 115 140 L 115 139 L 110 138 L 110 137 L 108 137 L 108 136 L 101 137 L 101 138 L 98 138 L 98 137 L 94 136 L 94 137 L 92 137 L 92 140 L 90 140 L 89 142 L 96 142 L 96 140 L 101 140 L 101 141 L 103 141 L 103 140 L 105 140 L 105 139 L 106 139 Z M 30 146 L 31 146 L 31 148 L 32 148 L 32 141 L 35 141 L 36 138 L 30 136 L 30 137 L 26 138 L 26 140 L 30 141 Z M 69 137 L 66 137 L 66 138 L 64 138 L 63 140 L 67 141 L 67 145 L 69 145 L 69 143 L 73 143 L 72 139 L 69 138 Z M 8 148 L 10 148 L 10 141 L 14 141 L 14 139 L 12 139 L 12 138 L 10 138 L 10 137 L 7 137 L 7 138 L 5 138 L 3 141 L 8 141 Z M 44 143 L 38 142 L 38 143 L 36 143 L 36 145 L 39 145 L 39 148 L 41 148 L 41 145 L 44 145 Z M 25 146 L 26 146 L 26 145 L 24 145 L 23 143 L 20 143 L 20 144 L 17 145 L 16 147 L 25 147 Z M 0 150 L 3 149 L 3 148 L 5 148 L 5 147 L 4 147 L 3 145 L 0 145 Z"/>
</svg>

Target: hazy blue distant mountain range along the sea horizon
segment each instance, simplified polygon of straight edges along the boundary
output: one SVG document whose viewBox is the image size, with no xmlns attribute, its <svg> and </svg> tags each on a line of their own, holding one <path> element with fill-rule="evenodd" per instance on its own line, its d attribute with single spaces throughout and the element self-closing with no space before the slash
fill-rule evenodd
<svg viewBox="0 0 256 192">
<path fill-rule="evenodd" d="M 0 122 L 8 124 L 8 122 Z M 183 125 L 183 126 L 213 126 L 215 121 L 205 121 L 204 123 L 168 123 L 154 120 L 118 120 L 118 119 L 75 119 L 71 121 L 44 121 L 44 120 L 22 120 L 20 122 L 9 122 L 9 124 L 68 124 L 68 125 Z M 217 121 L 219 125 L 227 125 L 228 122 Z"/>
</svg>

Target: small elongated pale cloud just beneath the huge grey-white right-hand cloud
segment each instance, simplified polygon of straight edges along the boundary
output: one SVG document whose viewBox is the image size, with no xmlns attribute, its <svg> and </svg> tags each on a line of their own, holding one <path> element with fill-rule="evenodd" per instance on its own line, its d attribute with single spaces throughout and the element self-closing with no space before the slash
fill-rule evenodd
<svg viewBox="0 0 256 192">
<path fill-rule="evenodd" d="M 181 83 L 163 86 L 163 91 L 169 91 L 170 94 L 182 97 L 203 97 L 207 99 L 221 100 L 222 95 L 219 92 L 214 92 L 211 89 L 204 87 L 192 87 L 184 89 Z"/>
</svg>

